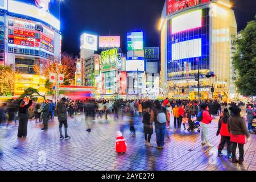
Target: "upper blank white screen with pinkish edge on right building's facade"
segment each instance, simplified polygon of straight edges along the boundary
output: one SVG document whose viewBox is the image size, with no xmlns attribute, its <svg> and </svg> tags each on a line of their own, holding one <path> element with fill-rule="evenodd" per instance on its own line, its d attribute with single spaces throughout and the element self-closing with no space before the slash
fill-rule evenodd
<svg viewBox="0 0 256 182">
<path fill-rule="evenodd" d="M 172 18 L 172 34 L 202 26 L 202 10 Z"/>
</svg>

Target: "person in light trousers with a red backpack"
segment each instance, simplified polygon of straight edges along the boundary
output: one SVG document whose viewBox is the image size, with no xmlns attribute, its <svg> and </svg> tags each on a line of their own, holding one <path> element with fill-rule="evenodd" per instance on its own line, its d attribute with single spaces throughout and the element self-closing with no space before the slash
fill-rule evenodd
<svg viewBox="0 0 256 182">
<path fill-rule="evenodd" d="M 209 113 L 209 107 L 207 105 L 201 105 L 202 111 L 199 113 L 199 117 L 197 117 L 197 121 L 201 122 L 201 141 L 202 144 L 206 144 L 208 147 L 213 147 L 212 144 L 209 143 L 208 140 L 208 125 L 212 122 L 212 117 Z"/>
</svg>

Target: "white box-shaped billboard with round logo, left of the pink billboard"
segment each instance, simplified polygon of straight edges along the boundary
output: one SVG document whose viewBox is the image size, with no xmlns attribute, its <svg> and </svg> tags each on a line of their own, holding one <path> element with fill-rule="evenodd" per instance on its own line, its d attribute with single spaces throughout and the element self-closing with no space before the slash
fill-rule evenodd
<svg viewBox="0 0 256 182">
<path fill-rule="evenodd" d="M 88 49 L 92 51 L 97 51 L 97 35 L 92 34 L 82 34 L 81 35 L 81 49 Z"/>
</svg>

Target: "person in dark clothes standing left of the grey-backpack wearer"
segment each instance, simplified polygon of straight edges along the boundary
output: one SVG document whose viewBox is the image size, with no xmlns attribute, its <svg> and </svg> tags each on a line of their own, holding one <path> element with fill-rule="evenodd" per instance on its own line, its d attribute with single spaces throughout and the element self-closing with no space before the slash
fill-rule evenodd
<svg viewBox="0 0 256 182">
<path fill-rule="evenodd" d="M 151 135 L 153 134 L 153 125 L 150 122 L 150 108 L 147 106 L 144 109 L 143 114 L 143 131 L 144 131 L 144 137 L 145 137 L 145 145 L 148 147 L 152 147 L 152 144 L 150 143 Z"/>
</svg>

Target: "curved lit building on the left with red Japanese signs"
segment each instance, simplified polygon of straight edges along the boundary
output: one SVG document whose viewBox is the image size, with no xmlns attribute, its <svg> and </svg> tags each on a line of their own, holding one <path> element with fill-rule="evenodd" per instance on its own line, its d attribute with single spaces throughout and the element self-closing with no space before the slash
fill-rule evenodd
<svg viewBox="0 0 256 182">
<path fill-rule="evenodd" d="M 51 7 L 54 10 L 26 1 L 0 1 L 0 64 L 10 65 L 16 71 L 15 95 L 28 87 L 45 93 L 46 78 L 37 75 L 33 67 L 60 59 L 60 21 L 56 18 L 59 2 Z"/>
</svg>

